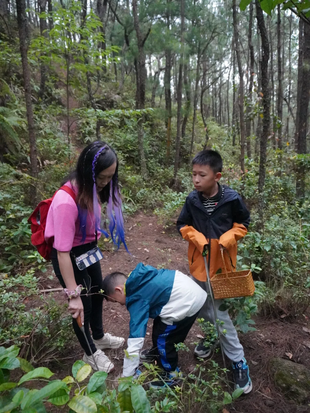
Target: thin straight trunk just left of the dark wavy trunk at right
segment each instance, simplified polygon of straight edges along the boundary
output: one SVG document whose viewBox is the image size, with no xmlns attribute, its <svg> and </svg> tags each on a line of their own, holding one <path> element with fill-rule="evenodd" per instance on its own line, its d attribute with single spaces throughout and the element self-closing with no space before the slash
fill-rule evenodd
<svg viewBox="0 0 310 413">
<path fill-rule="evenodd" d="M 253 26 L 253 1 L 250 2 L 250 17 L 249 17 L 249 30 L 248 30 L 248 47 L 250 52 L 250 67 L 249 67 L 249 89 L 248 89 L 248 102 L 246 107 L 246 152 L 248 158 L 251 158 L 251 117 L 250 112 L 252 109 L 252 89 L 253 89 L 253 76 L 254 76 L 254 47 L 252 44 L 252 26 Z"/>
</svg>

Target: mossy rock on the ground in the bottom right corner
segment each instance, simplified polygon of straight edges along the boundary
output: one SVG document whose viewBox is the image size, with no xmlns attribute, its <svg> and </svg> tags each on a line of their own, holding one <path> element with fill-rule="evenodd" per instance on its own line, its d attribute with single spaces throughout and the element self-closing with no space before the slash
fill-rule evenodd
<svg viewBox="0 0 310 413">
<path fill-rule="evenodd" d="M 270 361 L 270 371 L 275 384 L 287 399 L 305 404 L 310 401 L 310 370 L 302 364 L 284 358 L 274 357 Z"/>
</svg>

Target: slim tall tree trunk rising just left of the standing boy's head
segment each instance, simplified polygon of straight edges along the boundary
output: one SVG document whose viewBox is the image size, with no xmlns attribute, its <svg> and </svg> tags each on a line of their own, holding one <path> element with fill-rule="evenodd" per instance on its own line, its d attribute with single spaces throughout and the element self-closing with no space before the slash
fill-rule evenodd
<svg viewBox="0 0 310 413">
<path fill-rule="evenodd" d="M 184 59 L 184 26 L 185 26 L 185 17 L 184 17 L 184 1 L 181 2 L 181 54 L 179 61 L 179 81 L 178 88 L 176 91 L 176 102 L 177 102 L 177 111 L 176 111 L 176 148 L 175 148 L 175 158 L 174 158 L 174 182 L 176 180 L 176 174 L 179 169 L 179 153 L 180 153 L 180 141 L 181 141 L 181 110 L 182 110 L 182 78 L 183 78 L 183 59 Z"/>
</svg>

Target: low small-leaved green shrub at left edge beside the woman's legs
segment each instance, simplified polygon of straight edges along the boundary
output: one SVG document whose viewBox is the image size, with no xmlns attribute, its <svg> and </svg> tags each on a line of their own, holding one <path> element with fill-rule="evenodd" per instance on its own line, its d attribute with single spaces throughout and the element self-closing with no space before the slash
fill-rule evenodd
<svg viewBox="0 0 310 413">
<path fill-rule="evenodd" d="M 18 344 L 24 356 L 48 362 L 64 351 L 74 333 L 67 304 L 50 298 L 36 304 L 38 281 L 34 270 L 0 276 L 0 343 Z"/>
</svg>

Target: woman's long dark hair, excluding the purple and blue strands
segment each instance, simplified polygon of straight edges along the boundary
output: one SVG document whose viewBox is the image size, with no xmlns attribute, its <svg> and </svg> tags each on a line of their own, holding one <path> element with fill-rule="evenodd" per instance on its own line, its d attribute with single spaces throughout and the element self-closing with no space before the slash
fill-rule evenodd
<svg viewBox="0 0 310 413">
<path fill-rule="evenodd" d="M 118 159 L 114 150 L 105 142 L 97 141 L 86 146 L 79 156 L 76 169 L 64 180 L 64 183 L 70 180 L 71 185 L 75 184 L 78 187 L 76 203 L 79 204 L 81 208 L 88 209 L 88 211 L 93 211 L 93 160 L 102 147 L 105 147 L 105 149 L 100 152 L 95 162 L 95 177 L 116 162 L 115 173 L 112 177 L 112 201 L 114 204 L 117 204 L 116 194 L 119 189 Z M 109 202 L 110 185 L 106 185 L 98 192 L 98 197 L 102 203 Z"/>
</svg>

